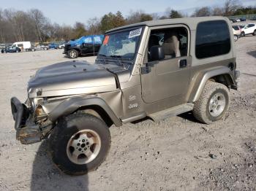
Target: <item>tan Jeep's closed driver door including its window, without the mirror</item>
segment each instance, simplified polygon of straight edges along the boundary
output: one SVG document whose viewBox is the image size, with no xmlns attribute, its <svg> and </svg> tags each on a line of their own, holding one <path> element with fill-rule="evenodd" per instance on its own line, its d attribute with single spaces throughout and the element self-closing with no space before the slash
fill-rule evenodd
<svg viewBox="0 0 256 191">
<path fill-rule="evenodd" d="M 152 46 L 163 49 L 165 58 L 151 61 Z M 153 28 L 150 31 L 146 61 L 141 69 L 142 97 L 146 103 L 181 97 L 187 93 L 191 57 L 189 29 L 185 26 Z"/>
</svg>

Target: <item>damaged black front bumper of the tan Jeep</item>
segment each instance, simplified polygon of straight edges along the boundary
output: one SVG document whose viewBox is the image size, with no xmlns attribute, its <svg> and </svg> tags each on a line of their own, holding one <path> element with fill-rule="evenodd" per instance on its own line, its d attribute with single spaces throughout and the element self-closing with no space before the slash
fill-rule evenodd
<svg viewBox="0 0 256 191">
<path fill-rule="evenodd" d="M 33 120 L 31 109 L 21 104 L 18 98 L 11 98 L 12 117 L 15 120 L 16 139 L 21 144 L 33 144 L 45 138 L 52 128 L 51 124 L 40 127 Z"/>
</svg>

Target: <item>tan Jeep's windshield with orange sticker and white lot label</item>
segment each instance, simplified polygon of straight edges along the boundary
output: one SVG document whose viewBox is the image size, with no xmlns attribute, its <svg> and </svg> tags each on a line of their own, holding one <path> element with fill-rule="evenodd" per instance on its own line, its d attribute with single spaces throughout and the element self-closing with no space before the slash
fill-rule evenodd
<svg viewBox="0 0 256 191">
<path fill-rule="evenodd" d="M 137 50 L 142 28 L 105 35 L 99 50 L 100 56 L 132 60 Z"/>
</svg>

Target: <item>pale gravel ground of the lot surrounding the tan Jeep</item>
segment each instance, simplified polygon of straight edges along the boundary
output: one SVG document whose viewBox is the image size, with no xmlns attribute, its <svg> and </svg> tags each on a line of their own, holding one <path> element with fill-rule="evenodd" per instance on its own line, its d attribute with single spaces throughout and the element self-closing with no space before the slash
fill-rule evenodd
<svg viewBox="0 0 256 191">
<path fill-rule="evenodd" d="M 61 50 L 1 54 L 0 190 L 255 190 L 256 36 L 238 39 L 236 50 L 241 87 L 222 120 L 204 125 L 186 113 L 112 127 L 107 159 L 86 176 L 62 174 L 45 141 L 16 141 L 10 111 L 37 69 L 69 59 Z"/>
</svg>

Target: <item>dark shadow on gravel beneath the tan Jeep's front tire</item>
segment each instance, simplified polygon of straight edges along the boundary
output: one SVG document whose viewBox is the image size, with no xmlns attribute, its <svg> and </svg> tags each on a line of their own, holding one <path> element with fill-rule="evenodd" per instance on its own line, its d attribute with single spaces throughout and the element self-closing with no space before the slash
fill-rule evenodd
<svg viewBox="0 0 256 191">
<path fill-rule="evenodd" d="M 47 141 L 43 141 L 34 159 L 31 176 L 31 191 L 36 190 L 88 190 L 88 176 L 69 176 L 59 171 L 50 160 Z"/>
</svg>

